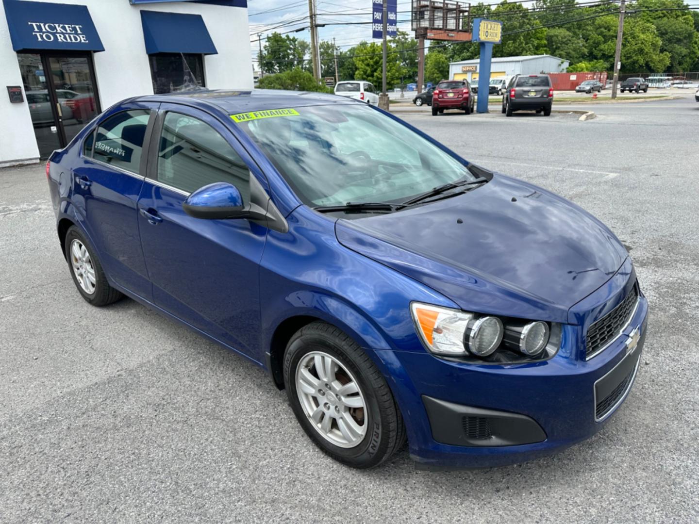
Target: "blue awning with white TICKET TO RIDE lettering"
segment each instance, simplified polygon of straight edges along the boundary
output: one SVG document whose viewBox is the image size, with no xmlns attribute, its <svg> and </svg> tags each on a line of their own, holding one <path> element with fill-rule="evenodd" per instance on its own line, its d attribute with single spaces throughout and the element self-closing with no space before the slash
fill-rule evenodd
<svg viewBox="0 0 699 524">
<path fill-rule="evenodd" d="M 4 0 L 12 48 L 103 51 L 87 6 Z"/>
</svg>

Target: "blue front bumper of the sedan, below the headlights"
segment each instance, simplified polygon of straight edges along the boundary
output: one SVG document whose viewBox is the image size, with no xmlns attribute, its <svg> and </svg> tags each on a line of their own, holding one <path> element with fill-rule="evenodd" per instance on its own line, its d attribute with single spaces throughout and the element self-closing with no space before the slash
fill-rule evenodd
<svg viewBox="0 0 699 524">
<path fill-rule="evenodd" d="M 633 385 L 647 312 L 647 300 L 640 296 L 627 328 L 589 361 L 572 358 L 566 349 L 578 326 L 565 326 L 559 354 L 539 363 L 467 365 L 426 353 L 390 351 L 387 360 L 394 359 L 394 369 L 405 371 L 398 379 L 403 387 L 394 391 L 417 467 L 509 465 L 561 451 L 594 435 Z M 640 338 L 627 352 L 635 329 Z M 607 412 L 600 417 L 597 410 L 603 402 Z"/>
</svg>

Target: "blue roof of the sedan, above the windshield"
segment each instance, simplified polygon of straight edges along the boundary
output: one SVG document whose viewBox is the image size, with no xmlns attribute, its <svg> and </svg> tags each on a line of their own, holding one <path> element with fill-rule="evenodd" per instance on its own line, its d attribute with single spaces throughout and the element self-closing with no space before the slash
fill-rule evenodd
<svg viewBox="0 0 699 524">
<path fill-rule="evenodd" d="M 358 80 L 359 81 L 359 80 Z M 297 108 L 308 105 L 333 103 L 362 103 L 345 96 L 282 89 L 198 89 L 191 92 L 137 96 L 130 102 L 183 103 L 185 105 L 210 105 L 229 115 L 238 112 L 268 109 Z M 124 101 L 126 102 L 126 101 Z"/>
</svg>

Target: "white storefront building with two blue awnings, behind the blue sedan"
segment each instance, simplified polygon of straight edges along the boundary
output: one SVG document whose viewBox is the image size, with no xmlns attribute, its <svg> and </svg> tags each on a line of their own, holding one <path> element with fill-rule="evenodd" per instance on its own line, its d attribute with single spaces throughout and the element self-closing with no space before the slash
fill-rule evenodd
<svg viewBox="0 0 699 524">
<path fill-rule="evenodd" d="M 247 0 L 0 0 L 0 167 L 129 96 L 252 88 Z"/>
</svg>

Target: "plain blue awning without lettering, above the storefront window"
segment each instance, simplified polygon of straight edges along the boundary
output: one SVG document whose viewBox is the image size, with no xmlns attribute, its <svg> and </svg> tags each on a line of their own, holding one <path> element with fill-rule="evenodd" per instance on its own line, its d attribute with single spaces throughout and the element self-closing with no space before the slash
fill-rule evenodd
<svg viewBox="0 0 699 524">
<path fill-rule="evenodd" d="M 218 54 L 201 15 L 141 11 L 145 52 Z"/>
</svg>

